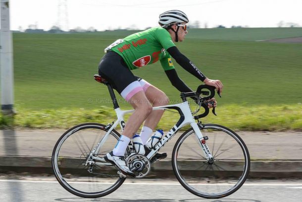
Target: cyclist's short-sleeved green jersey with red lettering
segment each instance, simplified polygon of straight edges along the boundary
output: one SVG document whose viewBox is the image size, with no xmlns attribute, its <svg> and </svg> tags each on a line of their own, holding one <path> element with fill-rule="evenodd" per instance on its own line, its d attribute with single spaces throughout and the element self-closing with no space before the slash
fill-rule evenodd
<svg viewBox="0 0 302 202">
<path fill-rule="evenodd" d="M 105 49 L 119 54 L 129 67 L 137 69 L 160 61 L 164 70 L 173 69 L 167 49 L 175 46 L 171 35 L 161 27 L 147 29 L 119 39 Z"/>
</svg>

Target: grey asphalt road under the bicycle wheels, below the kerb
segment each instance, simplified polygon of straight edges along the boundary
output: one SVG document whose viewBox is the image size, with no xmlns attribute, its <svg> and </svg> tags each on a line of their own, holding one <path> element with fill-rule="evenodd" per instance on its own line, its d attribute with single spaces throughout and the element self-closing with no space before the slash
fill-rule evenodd
<svg viewBox="0 0 302 202">
<path fill-rule="evenodd" d="M 53 177 L 0 178 L 0 202 L 298 202 L 302 180 L 247 181 L 233 195 L 217 200 L 196 197 L 174 179 L 126 180 L 114 193 L 83 199 L 65 191 Z"/>
</svg>

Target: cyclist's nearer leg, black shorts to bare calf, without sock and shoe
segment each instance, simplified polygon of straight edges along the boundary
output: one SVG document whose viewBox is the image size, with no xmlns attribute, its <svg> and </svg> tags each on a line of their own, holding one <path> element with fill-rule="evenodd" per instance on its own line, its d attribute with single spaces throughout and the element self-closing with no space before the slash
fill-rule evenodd
<svg viewBox="0 0 302 202">
<path fill-rule="evenodd" d="M 131 139 L 152 111 L 152 106 L 144 92 L 144 86 L 138 81 L 138 77 L 133 75 L 123 59 L 114 52 L 107 53 L 102 59 L 99 74 L 107 79 L 135 109 L 122 133 Z"/>
</svg>

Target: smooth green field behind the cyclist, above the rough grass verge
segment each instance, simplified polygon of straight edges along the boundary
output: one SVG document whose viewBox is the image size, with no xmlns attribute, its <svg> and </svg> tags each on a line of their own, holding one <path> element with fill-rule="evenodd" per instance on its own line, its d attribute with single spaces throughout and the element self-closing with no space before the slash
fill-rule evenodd
<svg viewBox="0 0 302 202">
<path fill-rule="evenodd" d="M 133 32 L 15 33 L 16 109 L 76 112 L 111 107 L 107 88 L 93 75 L 103 49 Z M 302 44 L 255 41 L 297 36 L 302 36 L 302 28 L 191 29 L 185 42 L 177 46 L 207 77 L 223 82 L 222 98 L 217 98 L 221 109 L 297 105 L 302 102 Z M 192 89 L 201 84 L 175 62 L 174 66 Z M 171 102 L 180 101 L 159 63 L 133 72 L 162 89 Z"/>
</svg>

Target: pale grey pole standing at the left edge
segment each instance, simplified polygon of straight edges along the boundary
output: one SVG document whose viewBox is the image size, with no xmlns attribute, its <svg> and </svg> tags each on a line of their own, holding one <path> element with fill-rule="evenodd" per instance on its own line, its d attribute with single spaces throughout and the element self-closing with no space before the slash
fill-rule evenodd
<svg viewBox="0 0 302 202">
<path fill-rule="evenodd" d="M 13 115 L 13 58 L 12 34 L 9 26 L 9 0 L 0 0 L 0 6 L 1 111 L 3 114 Z"/>
</svg>

